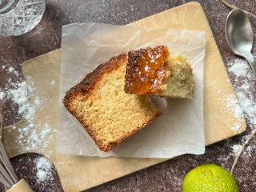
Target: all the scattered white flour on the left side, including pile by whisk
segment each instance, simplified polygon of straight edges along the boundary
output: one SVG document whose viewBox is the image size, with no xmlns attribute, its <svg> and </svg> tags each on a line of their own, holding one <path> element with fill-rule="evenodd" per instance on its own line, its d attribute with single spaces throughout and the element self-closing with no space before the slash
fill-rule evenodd
<svg viewBox="0 0 256 192">
<path fill-rule="evenodd" d="M 0 0 L 1 1 L 1 0 Z M 6 74 L 15 76 L 20 79 L 20 74 L 10 66 L 0 66 Z M 15 78 L 15 79 L 16 79 Z M 52 82 L 52 85 L 54 82 Z M 52 130 L 48 122 L 38 122 L 35 115 L 42 109 L 42 104 L 46 99 L 39 98 L 34 89 L 34 82 L 31 78 L 27 77 L 27 82 L 14 82 L 14 79 L 9 78 L 6 81 L 5 87 L 0 88 L 0 101 L 10 102 L 17 107 L 18 115 L 22 118 L 22 123 L 9 126 L 8 131 L 17 135 L 14 138 L 14 146 L 18 147 L 19 153 L 45 151 L 50 146 L 52 140 Z M 48 149 L 48 148 L 47 148 Z M 20 159 L 22 161 L 22 159 Z M 28 159 L 30 162 L 30 158 Z M 36 181 L 38 183 L 46 183 L 54 180 L 52 170 L 53 165 L 48 158 L 34 159 L 34 171 L 36 173 Z M 45 189 L 44 189 L 45 190 Z"/>
</svg>

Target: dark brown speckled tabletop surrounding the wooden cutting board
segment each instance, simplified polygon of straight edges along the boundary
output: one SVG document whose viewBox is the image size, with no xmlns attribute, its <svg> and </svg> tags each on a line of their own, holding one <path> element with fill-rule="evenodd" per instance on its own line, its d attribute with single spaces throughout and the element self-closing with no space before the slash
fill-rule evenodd
<svg viewBox="0 0 256 192">
<path fill-rule="evenodd" d="M 22 62 L 27 59 L 58 49 L 61 46 L 62 26 L 70 22 L 104 22 L 125 25 L 186 2 L 190 1 L 46 0 L 46 13 L 42 22 L 34 30 L 19 37 L 0 36 L 0 66 L 14 66 L 16 70 L 20 71 Z M 230 9 L 219 0 L 200 0 L 198 2 L 201 3 L 206 12 L 214 38 L 226 65 L 231 58 L 236 58 L 227 46 L 224 34 L 226 15 Z M 230 3 L 256 14 L 254 0 L 230 0 Z M 256 18 L 250 17 L 250 22 L 255 32 Z M 22 79 L 22 74 L 18 78 L 11 77 L 10 74 L 5 74 L 3 70 L 0 70 L 0 87 L 6 86 L 7 78 L 16 82 Z M 232 76 L 230 78 L 234 82 Z M 255 86 L 255 82 L 251 83 L 254 83 Z M 4 126 L 18 121 L 19 117 L 15 114 L 15 110 L 12 110 L 14 108 L 12 105 L 11 102 L 7 102 L 4 107 Z M 252 127 L 249 126 L 242 135 L 207 146 L 204 155 L 182 155 L 87 191 L 182 191 L 184 175 L 194 166 L 213 162 L 225 167 L 226 170 L 230 170 L 234 161 L 232 146 L 237 143 L 241 144 L 242 138 L 249 134 L 251 129 Z M 253 138 L 248 146 L 254 149 L 255 144 Z M 241 191 L 255 191 L 255 154 L 255 150 L 251 151 L 251 155 L 243 154 L 234 170 L 234 177 L 237 179 Z M 37 158 L 38 155 L 24 154 L 11 159 L 18 177 L 25 178 L 34 191 L 63 191 L 56 170 L 53 170 L 54 178 L 50 181 L 36 182 L 34 158 Z M 28 161 L 29 159 L 30 161 Z"/>
</svg>

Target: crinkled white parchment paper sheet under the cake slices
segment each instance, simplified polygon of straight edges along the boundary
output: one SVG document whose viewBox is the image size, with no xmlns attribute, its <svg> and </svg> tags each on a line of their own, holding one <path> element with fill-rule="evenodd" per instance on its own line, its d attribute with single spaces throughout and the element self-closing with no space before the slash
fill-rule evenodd
<svg viewBox="0 0 256 192">
<path fill-rule="evenodd" d="M 147 46 L 168 46 L 171 54 L 184 54 L 194 69 L 194 98 L 153 97 L 162 111 L 160 118 L 122 142 L 109 153 L 98 150 L 89 134 L 69 114 L 62 98 L 87 73 L 111 57 Z M 142 30 L 134 26 L 99 23 L 70 24 L 62 28 L 62 66 L 59 98 L 57 150 L 64 154 L 135 158 L 172 158 L 203 154 L 203 58 L 204 31 Z"/>
</svg>

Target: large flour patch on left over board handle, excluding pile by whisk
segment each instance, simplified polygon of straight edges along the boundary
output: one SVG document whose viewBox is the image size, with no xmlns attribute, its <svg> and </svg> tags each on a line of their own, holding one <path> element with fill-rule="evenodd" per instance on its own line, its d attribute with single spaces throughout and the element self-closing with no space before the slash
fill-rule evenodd
<svg viewBox="0 0 256 192">
<path fill-rule="evenodd" d="M 13 67 L 6 67 L 6 72 L 15 74 L 17 71 Z M 9 130 L 18 133 L 14 142 L 24 146 L 20 152 L 44 151 L 50 144 L 52 130 L 47 122 L 35 121 L 35 114 L 41 109 L 44 100 L 36 96 L 34 82 L 31 79 L 28 81 L 29 85 L 26 82 L 10 82 L 11 88 L 0 90 L 0 99 L 14 102 L 18 106 L 18 114 L 24 120 L 22 126 L 12 126 Z"/>
</svg>

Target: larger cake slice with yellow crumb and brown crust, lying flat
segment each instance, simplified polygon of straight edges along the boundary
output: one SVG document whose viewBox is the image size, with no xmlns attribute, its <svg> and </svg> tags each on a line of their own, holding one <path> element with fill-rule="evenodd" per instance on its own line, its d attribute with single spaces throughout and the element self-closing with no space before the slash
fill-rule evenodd
<svg viewBox="0 0 256 192">
<path fill-rule="evenodd" d="M 63 99 L 66 110 L 103 151 L 112 150 L 160 115 L 149 97 L 124 92 L 126 64 L 126 54 L 111 58 L 67 91 Z"/>
</svg>

